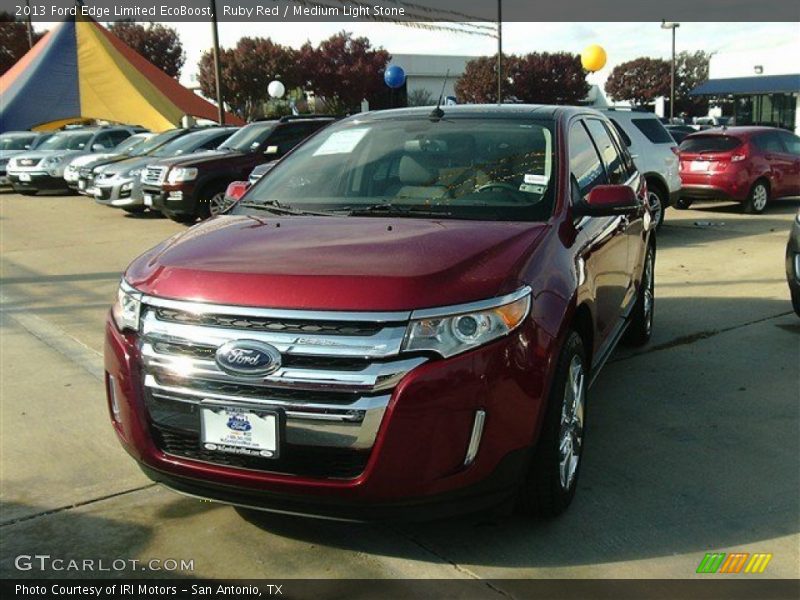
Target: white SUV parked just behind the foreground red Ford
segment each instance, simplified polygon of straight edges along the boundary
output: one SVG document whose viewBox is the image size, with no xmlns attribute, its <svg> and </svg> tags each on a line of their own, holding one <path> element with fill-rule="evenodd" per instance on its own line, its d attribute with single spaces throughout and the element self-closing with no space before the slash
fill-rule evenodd
<svg viewBox="0 0 800 600">
<path fill-rule="evenodd" d="M 674 206 L 680 197 L 678 145 L 654 113 L 614 108 L 600 110 L 617 128 L 636 167 L 645 176 L 650 206 L 656 226 L 660 227 L 664 211 Z"/>
</svg>

